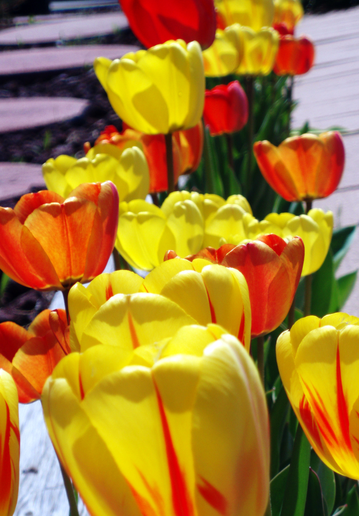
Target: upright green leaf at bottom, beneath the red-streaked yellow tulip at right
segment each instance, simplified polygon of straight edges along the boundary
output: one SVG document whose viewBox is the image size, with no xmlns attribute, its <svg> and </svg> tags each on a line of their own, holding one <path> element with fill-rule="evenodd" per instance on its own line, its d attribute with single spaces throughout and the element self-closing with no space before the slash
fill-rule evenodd
<svg viewBox="0 0 359 516">
<path fill-rule="evenodd" d="M 298 425 L 280 516 L 304 516 L 311 445 Z"/>
</svg>

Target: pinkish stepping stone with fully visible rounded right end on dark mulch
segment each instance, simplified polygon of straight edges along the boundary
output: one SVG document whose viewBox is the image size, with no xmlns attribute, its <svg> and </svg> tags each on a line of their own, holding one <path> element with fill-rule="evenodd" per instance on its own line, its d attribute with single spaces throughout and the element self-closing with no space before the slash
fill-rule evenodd
<svg viewBox="0 0 359 516">
<path fill-rule="evenodd" d="M 88 105 L 87 100 L 66 97 L 0 99 L 0 134 L 71 120 Z"/>
</svg>

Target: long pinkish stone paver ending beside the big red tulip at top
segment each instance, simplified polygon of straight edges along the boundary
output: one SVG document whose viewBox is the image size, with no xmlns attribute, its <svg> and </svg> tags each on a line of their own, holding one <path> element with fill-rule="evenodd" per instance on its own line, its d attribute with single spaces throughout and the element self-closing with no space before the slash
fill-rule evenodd
<svg viewBox="0 0 359 516">
<path fill-rule="evenodd" d="M 61 40 L 93 38 L 112 34 L 128 26 L 122 12 L 69 16 L 0 32 L 0 45 L 55 43 Z"/>
</svg>

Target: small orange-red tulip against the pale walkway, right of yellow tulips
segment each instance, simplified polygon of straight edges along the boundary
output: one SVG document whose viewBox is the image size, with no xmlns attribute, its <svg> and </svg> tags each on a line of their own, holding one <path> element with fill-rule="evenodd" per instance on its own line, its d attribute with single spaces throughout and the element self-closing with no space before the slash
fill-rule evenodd
<svg viewBox="0 0 359 516">
<path fill-rule="evenodd" d="M 310 39 L 281 36 L 273 71 L 277 75 L 302 75 L 312 68 L 314 55 L 314 44 Z"/>
</svg>

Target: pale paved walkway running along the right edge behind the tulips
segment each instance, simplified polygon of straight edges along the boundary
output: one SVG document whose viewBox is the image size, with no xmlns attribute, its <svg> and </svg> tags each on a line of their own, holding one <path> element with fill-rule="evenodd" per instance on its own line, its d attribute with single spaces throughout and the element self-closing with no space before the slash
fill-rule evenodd
<svg viewBox="0 0 359 516">
<path fill-rule="evenodd" d="M 346 131 L 346 167 L 339 188 L 314 205 L 334 213 L 335 226 L 359 223 L 359 8 L 305 17 L 297 34 L 311 36 L 316 45 L 316 64 L 296 78 L 294 98 L 299 105 L 293 127 L 305 121 L 320 130 L 341 127 Z M 338 276 L 359 268 L 359 231 L 342 261 Z M 359 316 L 359 280 L 344 310 Z"/>
</svg>

